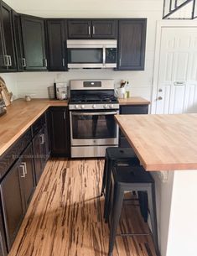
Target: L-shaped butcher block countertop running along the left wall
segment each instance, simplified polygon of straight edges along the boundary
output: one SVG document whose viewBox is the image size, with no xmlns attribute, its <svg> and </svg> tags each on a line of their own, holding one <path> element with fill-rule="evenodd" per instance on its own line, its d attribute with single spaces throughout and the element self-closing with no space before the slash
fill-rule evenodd
<svg viewBox="0 0 197 256">
<path fill-rule="evenodd" d="M 22 99 L 12 102 L 7 113 L 0 118 L 0 155 L 2 155 L 48 107 L 68 106 L 67 101 Z"/>
</svg>

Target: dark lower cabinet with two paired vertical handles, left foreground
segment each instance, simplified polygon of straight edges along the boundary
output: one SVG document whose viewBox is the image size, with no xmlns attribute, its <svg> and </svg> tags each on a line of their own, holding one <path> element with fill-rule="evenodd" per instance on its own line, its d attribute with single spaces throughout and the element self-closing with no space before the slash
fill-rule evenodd
<svg viewBox="0 0 197 256">
<path fill-rule="evenodd" d="M 9 170 L 0 185 L 8 250 L 12 247 L 35 188 L 32 144 Z"/>
</svg>

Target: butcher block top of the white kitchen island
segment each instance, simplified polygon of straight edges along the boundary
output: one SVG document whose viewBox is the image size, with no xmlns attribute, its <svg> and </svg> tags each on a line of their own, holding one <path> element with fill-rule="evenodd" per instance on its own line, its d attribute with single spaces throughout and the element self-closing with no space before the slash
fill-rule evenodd
<svg viewBox="0 0 197 256">
<path fill-rule="evenodd" d="M 197 114 L 115 118 L 145 170 L 197 170 Z"/>
</svg>

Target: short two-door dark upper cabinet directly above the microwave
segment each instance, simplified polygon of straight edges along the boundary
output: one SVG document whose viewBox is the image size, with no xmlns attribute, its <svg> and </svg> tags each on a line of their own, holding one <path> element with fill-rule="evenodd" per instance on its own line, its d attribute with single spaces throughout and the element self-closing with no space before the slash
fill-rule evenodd
<svg viewBox="0 0 197 256">
<path fill-rule="evenodd" d="M 70 19 L 69 39 L 115 39 L 117 21 L 113 19 Z"/>
</svg>

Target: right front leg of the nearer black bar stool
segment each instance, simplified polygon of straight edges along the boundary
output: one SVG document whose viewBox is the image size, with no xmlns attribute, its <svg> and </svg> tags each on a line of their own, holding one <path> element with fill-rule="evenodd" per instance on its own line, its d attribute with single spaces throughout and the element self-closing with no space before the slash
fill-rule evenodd
<svg viewBox="0 0 197 256">
<path fill-rule="evenodd" d="M 158 249 L 158 225 L 157 225 L 157 212 L 156 212 L 156 200 L 155 200 L 155 187 L 154 183 L 151 184 L 151 188 L 148 189 L 148 206 L 150 211 L 151 226 L 153 229 L 153 242 L 157 256 L 160 255 Z"/>
</svg>

